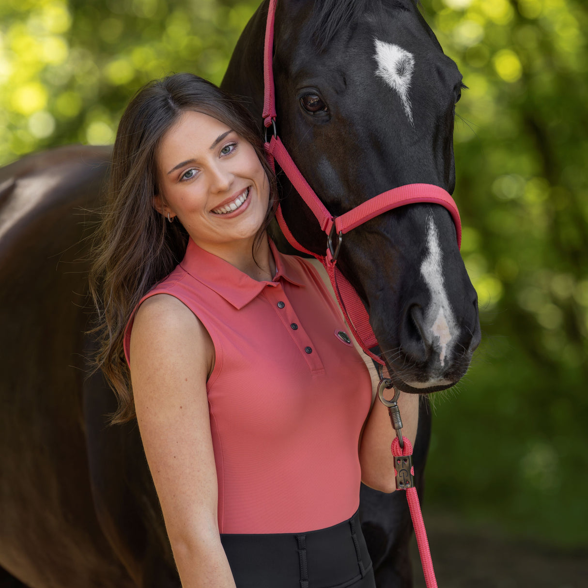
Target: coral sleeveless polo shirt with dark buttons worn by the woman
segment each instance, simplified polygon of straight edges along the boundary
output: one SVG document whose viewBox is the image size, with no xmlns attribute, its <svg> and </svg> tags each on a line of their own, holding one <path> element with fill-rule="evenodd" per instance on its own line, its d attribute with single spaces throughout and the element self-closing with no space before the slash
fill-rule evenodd
<svg viewBox="0 0 588 588">
<path fill-rule="evenodd" d="M 340 335 L 345 322 L 315 268 L 270 248 L 276 276 L 258 282 L 190 239 L 182 262 L 141 300 L 175 296 L 211 336 L 220 533 L 322 529 L 359 506 L 368 369 Z M 131 329 L 132 318 L 127 360 Z"/>
</svg>

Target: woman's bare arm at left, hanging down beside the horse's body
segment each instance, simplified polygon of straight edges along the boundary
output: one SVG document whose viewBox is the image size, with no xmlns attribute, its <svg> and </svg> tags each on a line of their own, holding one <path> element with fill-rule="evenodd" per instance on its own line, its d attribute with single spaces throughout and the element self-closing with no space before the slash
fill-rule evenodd
<svg viewBox="0 0 588 588">
<path fill-rule="evenodd" d="M 182 302 L 143 302 L 131 335 L 139 430 L 183 588 L 235 588 L 220 543 L 206 378 L 212 340 Z"/>
</svg>

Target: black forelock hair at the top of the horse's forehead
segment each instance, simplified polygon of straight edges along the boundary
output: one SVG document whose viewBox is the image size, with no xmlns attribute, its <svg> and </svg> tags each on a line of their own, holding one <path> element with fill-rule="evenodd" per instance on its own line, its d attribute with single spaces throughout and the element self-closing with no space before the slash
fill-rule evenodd
<svg viewBox="0 0 588 588">
<path fill-rule="evenodd" d="M 310 35 L 319 51 L 324 51 L 335 34 L 350 23 L 358 21 L 368 4 L 387 4 L 392 8 L 406 10 L 402 0 L 319 0 L 315 4 Z"/>
</svg>

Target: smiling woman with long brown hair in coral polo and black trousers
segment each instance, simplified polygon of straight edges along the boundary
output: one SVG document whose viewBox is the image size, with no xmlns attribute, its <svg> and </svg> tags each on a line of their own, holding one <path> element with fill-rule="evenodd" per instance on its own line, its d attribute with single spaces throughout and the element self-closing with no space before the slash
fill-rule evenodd
<svg viewBox="0 0 588 588">
<path fill-rule="evenodd" d="M 113 422 L 136 413 L 183 588 L 373 587 L 356 510 L 360 479 L 394 489 L 392 427 L 318 273 L 268 240 L 255 123 L 197 76 L 149 84 L 109 198 L 98 363 Z"/>
</svg>

